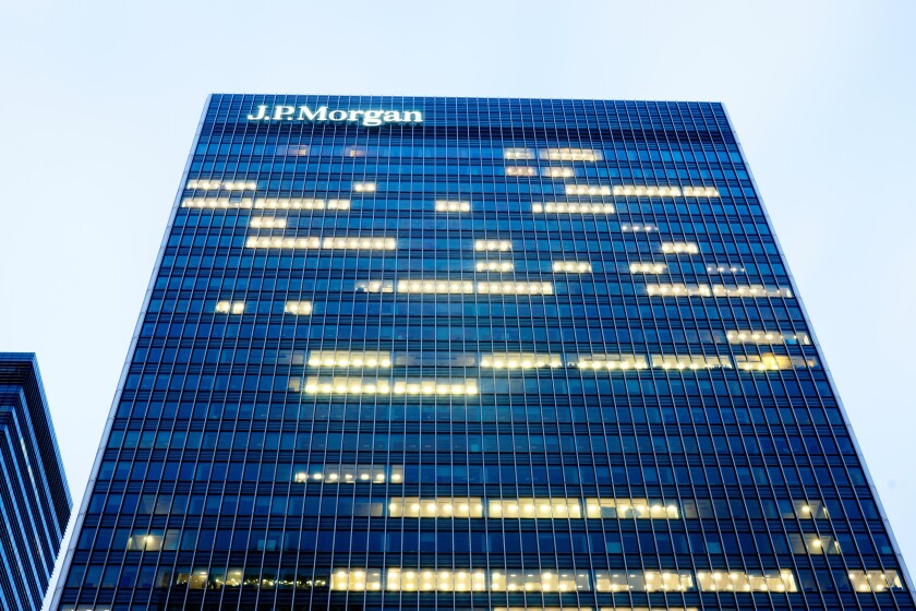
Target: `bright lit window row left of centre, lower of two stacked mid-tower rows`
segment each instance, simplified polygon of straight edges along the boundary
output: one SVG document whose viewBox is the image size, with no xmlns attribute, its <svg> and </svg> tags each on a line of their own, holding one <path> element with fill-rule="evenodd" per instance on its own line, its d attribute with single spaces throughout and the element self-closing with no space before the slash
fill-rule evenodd
<svg viewBox="0 0 916 611">
<path fill-rule="evenodd" d="M 383 380 L 376 378 L 309 378 L 306 395 L 439 395 L 473 396 L 475 380 Z"/>
</svg>

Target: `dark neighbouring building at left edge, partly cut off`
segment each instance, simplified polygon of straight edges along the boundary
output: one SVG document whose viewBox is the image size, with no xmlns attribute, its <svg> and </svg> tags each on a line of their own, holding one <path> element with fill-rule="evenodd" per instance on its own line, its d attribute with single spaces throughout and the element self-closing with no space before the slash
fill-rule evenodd
<svg viewBox="0 0 916 611">
<path fill-rule="evenodd" d="M 0 352 L 0 610 L 41 608 L 71 505 L 38 360 Z"/>
</svg>

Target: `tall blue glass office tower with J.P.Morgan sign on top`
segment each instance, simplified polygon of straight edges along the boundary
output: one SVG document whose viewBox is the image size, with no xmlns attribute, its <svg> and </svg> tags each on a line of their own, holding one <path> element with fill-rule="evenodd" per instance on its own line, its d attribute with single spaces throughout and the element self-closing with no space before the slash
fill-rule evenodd
<svg viewBox="0 0 916 611">
<path fill-rule="evenodd" d="M 214 95 L 55 609 L 914 609 L 720 104 Z"/>
</svg>

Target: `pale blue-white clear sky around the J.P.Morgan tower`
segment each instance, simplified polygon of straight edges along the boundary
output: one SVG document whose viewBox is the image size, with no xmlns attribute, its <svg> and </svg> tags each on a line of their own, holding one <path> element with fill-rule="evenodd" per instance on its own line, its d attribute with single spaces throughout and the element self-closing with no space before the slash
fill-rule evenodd
<svg viewBox="0 0 916 611">
<path fill-rule="evenodd" d="M 210 92 L 721 100 L 916 564 L 914 17 L 908 0 L 2 0 L 0 350 L 38 354 L 79 506 Z"/>
</svg>

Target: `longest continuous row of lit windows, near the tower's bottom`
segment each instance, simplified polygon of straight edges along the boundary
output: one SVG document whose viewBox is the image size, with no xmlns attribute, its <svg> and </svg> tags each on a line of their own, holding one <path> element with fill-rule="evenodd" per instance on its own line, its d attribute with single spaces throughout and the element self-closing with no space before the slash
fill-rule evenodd
<svg viewBox="0 0 916 611">
<path fill-rule="evenodd" d="M 689 571 L 586 572 L 481 571 L 447 568 L 338 568 L 332 573 L 332 590 L 349 591 L 770 591 L 795 592 L 792 571 Z M 895 572 L 893 573 L 896 576 Z M 890 582 L 889 582 L 890 583 Z M 897 586 L 902 587 L 902 586 Z"/>
</svg>

